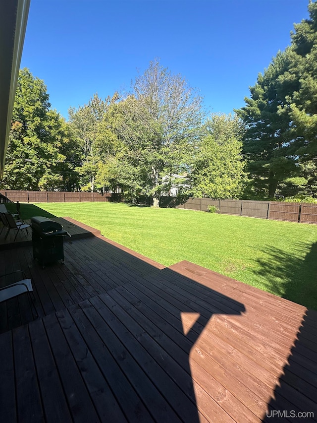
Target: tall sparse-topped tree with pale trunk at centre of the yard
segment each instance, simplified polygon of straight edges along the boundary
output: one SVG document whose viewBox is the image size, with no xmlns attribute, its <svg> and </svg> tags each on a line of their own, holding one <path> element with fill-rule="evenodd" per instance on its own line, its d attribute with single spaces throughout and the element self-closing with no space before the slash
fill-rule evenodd
<svg viewBox="0 0 317 423">
<path fill-rule="evenodd" d="M 129 150 L 129 163 L 138 168 L 138 193 L 152 196 L 154 206 L 165 190 L 164 176 L 188 169 L 201 121 L 202 98 L 158 60 L 121 102 L 116 132 Z"/>
</svg>

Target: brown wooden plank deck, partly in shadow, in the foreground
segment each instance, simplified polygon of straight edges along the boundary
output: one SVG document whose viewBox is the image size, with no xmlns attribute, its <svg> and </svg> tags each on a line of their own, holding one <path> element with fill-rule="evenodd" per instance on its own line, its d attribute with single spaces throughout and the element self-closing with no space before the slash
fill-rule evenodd
<svg viewBox="0 0 317 423">
<path fill-rule="evenodd" d="M 316 311 L 102 236 L 64 250 L 45 269 L 29 245 L 0 252 L 40 314 L 0 304 L 0 422 L 317 420 Z"/>
</svg>

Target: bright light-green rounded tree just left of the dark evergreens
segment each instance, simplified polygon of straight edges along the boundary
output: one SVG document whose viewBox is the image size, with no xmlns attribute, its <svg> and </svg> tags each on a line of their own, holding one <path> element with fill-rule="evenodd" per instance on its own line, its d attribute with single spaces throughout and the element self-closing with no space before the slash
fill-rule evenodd
<svg viewBox="0 0 317 423">
<path fill-rule="evenodd" d="M 239 198 L 246 180 L 241 122 L 237 116 L 212 115 L 205 130 L 192 173 L 193 195 Z"/>
</svg>

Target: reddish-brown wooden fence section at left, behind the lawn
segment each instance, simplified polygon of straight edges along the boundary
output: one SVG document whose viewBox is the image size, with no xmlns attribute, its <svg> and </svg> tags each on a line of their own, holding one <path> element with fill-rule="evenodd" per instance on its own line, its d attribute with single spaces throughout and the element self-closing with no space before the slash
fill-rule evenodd
<svg viewBox="0 0 317 423">
<path fill-rule="evenodd" d="M 115 196 L 115 194 L 114 194 Z M 23 203 L 67 203 L 82 201 L 115 201 L 113 194 L 106 192 L 104 195 L 98 192 L 64 192 L 64 191 L 14 191 L 0 190 L 0 203 L 23 202 Z"/>
</svg>

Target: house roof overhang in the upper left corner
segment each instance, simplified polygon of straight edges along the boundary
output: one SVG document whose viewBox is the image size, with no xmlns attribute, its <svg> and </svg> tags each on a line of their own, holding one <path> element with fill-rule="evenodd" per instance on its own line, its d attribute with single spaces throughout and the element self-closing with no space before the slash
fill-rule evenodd
<svg viewBox="0 0 317 423">
<path fill-rule="evenodd" d="M 9 139 L 30 0 L 0 1 L 0 180 Z"/>
</svg>

